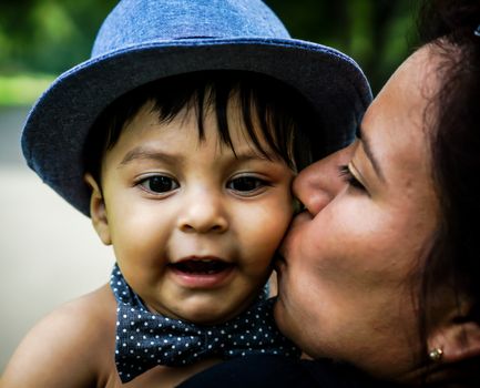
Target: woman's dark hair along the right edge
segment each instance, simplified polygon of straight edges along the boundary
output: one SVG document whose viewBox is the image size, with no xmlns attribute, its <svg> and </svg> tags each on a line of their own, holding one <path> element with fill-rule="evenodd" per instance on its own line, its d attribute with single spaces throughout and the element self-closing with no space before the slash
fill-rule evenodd
<svg viewBox="0 0 480 388">
<path fill-rule="evenodd" d="M 458 300 L 459 319 L 480 324 L 480 2 L 425 1 L 419 24 L 422 43 L 439 55 L 440 88 L 431 101 L 433 182 L 441 218 L 430 255 L 423 264 L 420 334 L 426 344 L 438 287 L 450 287 Z M 464 312 L 460 300 L 468 298 Z M 425 349 L 427 350 L 427 349 Z M 427 354 L 427 351 L 425 351 Z M 480 358 L 456 365 L 431 366 L 445 377 L 441 387 L 480 387 Z M 427 379 L 428 382 L 428 379 Z"/>
</svg>

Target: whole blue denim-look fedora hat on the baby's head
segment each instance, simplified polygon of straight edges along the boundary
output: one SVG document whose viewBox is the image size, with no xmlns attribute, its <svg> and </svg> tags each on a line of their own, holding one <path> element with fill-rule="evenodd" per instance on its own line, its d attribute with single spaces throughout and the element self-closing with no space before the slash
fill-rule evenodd
<svg viewBox="0 0 480 388">
<path fill-rule="evenodd" d="M 253 71 L 294 86 L 317 110 L 329 151 L 351 141 L 371 100 L 350 58 L 292 39 L 259 0 L 123 0 L 91 58 L 61 74 L 32 108 L 22 133 L 29 166 L 89 215 L 83 146 L 98 115 L 136 86 L 202 70 Z"/>
</svg>

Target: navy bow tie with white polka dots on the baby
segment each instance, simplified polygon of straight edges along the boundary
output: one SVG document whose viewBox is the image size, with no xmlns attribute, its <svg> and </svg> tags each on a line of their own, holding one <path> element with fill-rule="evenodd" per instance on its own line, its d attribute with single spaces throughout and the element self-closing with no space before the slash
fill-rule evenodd
<svg viewBox="0 0 480 388">
<path fill-rule="evenodd" d="M 116 265 L 110 285 L 118 302 L 115 364 L 122 382 L 157 365 L 185 366 L 206 357 L 300 356 L 278 331 L 272 313 L 274 299 L 265 295 L 229 321 L 200 326 L 149 312 Z"/>
</svg>

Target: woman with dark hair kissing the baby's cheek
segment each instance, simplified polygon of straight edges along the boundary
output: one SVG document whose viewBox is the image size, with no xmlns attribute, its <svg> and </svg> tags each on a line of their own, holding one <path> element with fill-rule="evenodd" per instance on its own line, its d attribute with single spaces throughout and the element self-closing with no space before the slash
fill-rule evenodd
<svg viewBox="0 0 480 388">
<path fill-rule="evenodd" d="M 277 266 L 280 329 L 356 371 L 256 358 L 190 384 L 480 386 L 480 4 L 432 1 L 423 20 L 359 139 L 296 178 Z"/>
</svg>

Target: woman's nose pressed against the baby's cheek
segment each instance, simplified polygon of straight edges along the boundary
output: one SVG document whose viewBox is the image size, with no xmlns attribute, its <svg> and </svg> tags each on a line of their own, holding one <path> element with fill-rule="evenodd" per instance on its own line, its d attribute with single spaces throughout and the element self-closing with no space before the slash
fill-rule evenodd
<svg viewBox="0 0 480 388">
<path fill-rule="evenodd" d="M 294 181 L 294 195 L 315 215 L 346 186 L 339 166 L 351 159 L 351 145 L 310 164 Z"/>
</svg>

